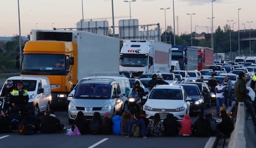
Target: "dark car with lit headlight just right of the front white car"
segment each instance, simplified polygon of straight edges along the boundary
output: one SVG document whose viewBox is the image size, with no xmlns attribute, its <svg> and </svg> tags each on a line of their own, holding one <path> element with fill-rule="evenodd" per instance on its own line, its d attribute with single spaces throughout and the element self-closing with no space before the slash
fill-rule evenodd
<svg viewBox="0 0 256 148">
<path fill-rule="evenodd" d="M 199 112 L 203 114 L 203 96 L 197 84 L 182 83 L 178 85 L 183 86 L 183 88 L 187 93 L 187 96 L 189 96 L 192 99 L 191 101 L 189 101 L 190 115 L 195 115 L 195 113 L 199 113 Z"/>
</svg>

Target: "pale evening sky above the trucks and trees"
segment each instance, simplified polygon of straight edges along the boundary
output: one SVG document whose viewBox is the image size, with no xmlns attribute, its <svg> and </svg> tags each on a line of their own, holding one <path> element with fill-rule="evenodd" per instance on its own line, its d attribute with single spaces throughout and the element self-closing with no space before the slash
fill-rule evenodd
<svg viewBox="0 0 256 148">
<path fill-rule="evenodd" d="M 0 0 L 0 36 L 19 35 L 19 0 Z M 111 0 L 20 0 L 20 31 L 22 36 L 30 34 L 32 29 L 51 30 L 55 28 L 75 28 L 76 23 L 82 19 L 106 18 L 112 25 Z M 174 7 L 173 7 L 174 1 Z M 129 19 L 129 2 L 113 0 L 114 2 L 114 25 L 118 26 L 121 19 Z M 211 5 L 213 4 L 213 5 Z M 211 6 L 213 6 L 213 30 L 218 26 L 223 29 L 224 25 L 231 22 L 231 29 L 237 30 L 238 16 L 240 30 L 256 28 L 256 1 L 255 0 L 137 0 L 130 2 L 132 19 L 138 19 L 139 25 L 160 23 L 161 30 L 166 26 L 173 27 L 173 8 L 175 18 L 176 35 L 179 33 L 189 34 L 210 33 Z M 166 9 L 166 17 L 164 10 Z M 238 10 L 241 8 L 241 10 Z M 190 15 L 192 19 L 190 19 Z M 239 15 L 238 15 L 239 14 Z M 192 25 L 190 21 L 192 20 Z M 251 22 L 252 23 L 248 23 Z M 244 23 L 244 25 L 242 25 Z M 195 27 L 197 26 L 197 27 Z M 154 27 L 155 28 L 155 27 Z M 207 30 L 208 28 L 208 30 Z M 141 29 L 142 30 L 142 29 Z"/>
</svg>

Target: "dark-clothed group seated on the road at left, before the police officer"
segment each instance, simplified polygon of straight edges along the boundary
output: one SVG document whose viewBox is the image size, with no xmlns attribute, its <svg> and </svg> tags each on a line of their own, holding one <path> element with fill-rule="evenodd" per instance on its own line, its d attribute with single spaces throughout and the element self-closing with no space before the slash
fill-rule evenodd
<svg viewBox="0 0 256 148">
<path fill-rule="evenodd" d="M 32 110 L 26 110 L 23 115 L 17 109 L 10 114 L 4 109 L 0 111 L 0 133 L 60 133 L 63 128 L 52 110 L 46 110 L 41 117 L 36 117 Z"/>
</svg>

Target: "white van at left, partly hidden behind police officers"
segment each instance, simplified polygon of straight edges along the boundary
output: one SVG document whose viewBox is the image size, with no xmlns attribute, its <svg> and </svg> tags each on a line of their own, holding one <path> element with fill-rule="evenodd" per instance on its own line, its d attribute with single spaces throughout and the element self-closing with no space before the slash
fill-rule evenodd
<svg viewBox="0 0 256 148">
<path fill-rule="evenodd" d="M 7 78 L 7 80 L 13 81 L 14 88 L 17 88 L 17 83 L 19 81 L 23 83 L 23 89 L 27 89 L 28 91 L 28 104 L 30 107 L 38 108 L 39 112 L 49 110 L 51 105 L 51 84 L 49 83 L 49 79 L 47 77 L 12 76 L 10 78 Z M 3 88 L 4 86 L 2 86 L 2 89 Z M 2 89 L 0 91 L 0 94 L 2 94 Z"/>
</svg>

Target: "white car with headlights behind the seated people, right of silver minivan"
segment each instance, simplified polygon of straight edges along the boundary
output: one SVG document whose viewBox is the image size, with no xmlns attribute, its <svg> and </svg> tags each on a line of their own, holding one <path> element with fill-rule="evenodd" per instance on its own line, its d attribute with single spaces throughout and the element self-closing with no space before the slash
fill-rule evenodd
<svg viewBox="0 0 256 148">
<path fill-rule="evenodd" d="M 191 100 L 183 86 L 158 85 L 148 94 L 143 110 L 145 110 L 147 118 L 153 118 L 155 113 L 160 113 L 163 120 L 168 113 L 173 113 L 175 117 L 182 120 L 185 114 L 189 114 L 189 101 Z"/>
</svg>

